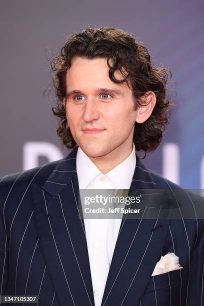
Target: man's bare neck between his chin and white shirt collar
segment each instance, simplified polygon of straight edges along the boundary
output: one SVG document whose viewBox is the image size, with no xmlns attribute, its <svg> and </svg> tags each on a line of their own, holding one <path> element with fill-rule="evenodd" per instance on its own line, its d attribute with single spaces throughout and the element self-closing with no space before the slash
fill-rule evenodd
<svg viewBox="0 0 204 306">
<path fill-rule="evenodd" d="M 98 156 L 98 157 L 89 157 L 92 162 L 96 165 L 96 167 L 102 172 L 106 174 L 113 168 L 115 168 L 118 164 L 120 164 L 124 159 L 126 159 L 132 151 L 132 143 L 126 146 L 125 148 L 116 147 L 108 154 Z"/>
</svg>

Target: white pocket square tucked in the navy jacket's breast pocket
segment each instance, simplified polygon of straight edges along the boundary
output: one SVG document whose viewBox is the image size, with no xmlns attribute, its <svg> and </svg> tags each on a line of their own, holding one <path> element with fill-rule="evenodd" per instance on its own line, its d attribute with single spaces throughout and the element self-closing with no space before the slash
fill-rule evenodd
<svg viewBox="0 0 204 306">
<path fill-rule="evenodd" d="M 161 256 L 160 260 L 156 263 L 151 276 L 182 268 L 183 267 L 179 265 L 178 256 L 174 253 L 167 253 L 166 255 Z"/>
</svg>

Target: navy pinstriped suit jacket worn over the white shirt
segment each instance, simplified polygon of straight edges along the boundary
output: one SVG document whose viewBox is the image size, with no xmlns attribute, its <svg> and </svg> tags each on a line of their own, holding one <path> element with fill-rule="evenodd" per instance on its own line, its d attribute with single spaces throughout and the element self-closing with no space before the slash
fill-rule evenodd
<svg viewBox="0 0 204 306">
<path fill-rule="evenodd" d="M 78 218 L 76 151 L 1 178 L 2 295 L 39 295 L 39 306 L 94 306 L 84 223 Z M 130 190 L 137 188 L 179 187 L 136 156 Z M 195 198 L 188 197 L 196 213 Z M 203 246 L 201 219 L 122 219 L 101 305 L 204 305 Z M 151 276 L 168 252 L 183 269 Z"/>
</svg>

